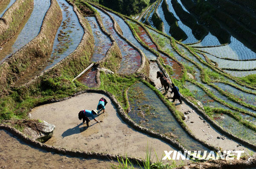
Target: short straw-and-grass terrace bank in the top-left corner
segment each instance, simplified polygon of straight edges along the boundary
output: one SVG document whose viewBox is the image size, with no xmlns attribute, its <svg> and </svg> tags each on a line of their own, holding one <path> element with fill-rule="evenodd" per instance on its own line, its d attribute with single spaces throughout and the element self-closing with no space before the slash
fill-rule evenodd
<svg viewBox="0 0 256 169">
<path fill-rule="evenodd" d="M 0 19 L 0 46 L 18 31 L 29 11 L 33 10 L 34 0 L 16 0 Z"/>
</svg>

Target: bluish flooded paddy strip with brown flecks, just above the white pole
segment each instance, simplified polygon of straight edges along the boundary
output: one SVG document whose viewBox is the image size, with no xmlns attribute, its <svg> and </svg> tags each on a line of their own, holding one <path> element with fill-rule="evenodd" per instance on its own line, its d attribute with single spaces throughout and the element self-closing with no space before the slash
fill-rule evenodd
<svg viewBox="0 0 256 169">
<path fill-rule="evenodd" d="M 97 20 L 95 17 L 85 17 L 92 28 L 93 31 L 93 37 L 94 37 L 94 53 L 92 56 L 93 62 L 98 62 L 99 60 L 102 60 L 103 57 L 105 57 L 106 52 L 111 47 L 111 40 L 110 38 L 105 35 L 101 29 L 99 28 L 99 25 L 97 23 Z"/>
</svg>

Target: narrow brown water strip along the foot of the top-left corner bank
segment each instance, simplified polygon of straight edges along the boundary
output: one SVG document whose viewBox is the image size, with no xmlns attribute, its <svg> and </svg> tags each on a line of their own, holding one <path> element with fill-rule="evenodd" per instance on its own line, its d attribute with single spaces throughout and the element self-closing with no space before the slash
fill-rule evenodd
<svg viewBox="0 0 256 169">
<path fill-rule="evenodd" d="M 0 5 L 1 6 L 1 5 Z M 12 46 L 16 42 L 17 37 L 19 36 L 20 32 L 26 25 L 27 21 L 29 20 L 30 15 L 32 14 L 33 9 L 29 11 L 29 13 L 26 15 L 26 18 L 24 21 L 20 24 L 19 29 L 17 30 L 16 34 L 12 37 L 12 39 L 8 40 L 8 42 L 4 45 L 2 45 L 2 50 L 0 50 L 0 61 L 3 60 L 7 55 L 12 53 Z"/>
</svg>

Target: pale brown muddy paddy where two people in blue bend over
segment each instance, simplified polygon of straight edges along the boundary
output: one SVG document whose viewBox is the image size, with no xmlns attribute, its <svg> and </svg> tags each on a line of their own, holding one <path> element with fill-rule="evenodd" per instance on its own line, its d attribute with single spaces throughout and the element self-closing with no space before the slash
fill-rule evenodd
<svg viewBox="0 0 256 169">
<path fill-rule="evenodd" d="M 96 123 L 91 120 L 87 129 L 78 119 L 78 112 L 82 109 L 96 109 L 98 100 L 105 97 L 108 101 L 105 113 L 100 112 Z M 128 126 L 116 112 L 111 100 L 105 95 L 85 93 L 58 103 L 38 106 L 32 109 L 32 118 L 45 120 L 55 125 L 53 137 L 46 144 L 93 152 L 108 152 L 131 157 L 145 157 L 146 148 L 152 148 L 158 158 L 164 150 L 174 150 L 167 143 L 143 133 L 137 132 Z M 155 158 L 154 158 L 155 160 Z"/>
</svg>

